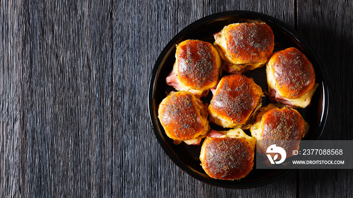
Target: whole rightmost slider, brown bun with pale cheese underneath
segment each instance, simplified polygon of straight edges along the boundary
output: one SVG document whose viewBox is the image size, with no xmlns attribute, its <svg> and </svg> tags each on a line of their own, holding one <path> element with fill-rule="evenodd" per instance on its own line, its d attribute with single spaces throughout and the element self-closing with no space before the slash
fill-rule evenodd
<svg viewBox="0 0 353 198">
<path fill-rule="evenodd" d="M 289 107 L 306 108 L 318 86 L 313 65 L 294 47 L 273 53 L 266 75 L 270 100 Z"/>
</svg>

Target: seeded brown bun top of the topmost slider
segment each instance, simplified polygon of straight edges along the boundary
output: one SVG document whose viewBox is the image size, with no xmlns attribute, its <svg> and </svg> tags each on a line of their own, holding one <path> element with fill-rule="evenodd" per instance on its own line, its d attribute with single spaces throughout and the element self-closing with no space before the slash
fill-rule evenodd
<svg viewBox="0 0 353 198">
<path fill-rule="evenodd" d="M 230 24 L 223 28 L 222 34 L 230 59 L 252 60 L 257 63 L 263 59 L 268 60 L 272 54 L 274 36 L 270 26 L 265 23 Z"/>
</svg>

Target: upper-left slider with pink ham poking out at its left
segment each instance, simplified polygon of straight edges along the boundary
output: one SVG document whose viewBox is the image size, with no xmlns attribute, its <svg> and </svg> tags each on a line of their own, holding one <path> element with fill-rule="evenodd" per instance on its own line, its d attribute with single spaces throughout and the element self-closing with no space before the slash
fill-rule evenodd
<svg viewBox="0 0 353 198">
<path fill-rule="evenodd" d="M 217 84 L 221 65 L 218 51 L 211 43 L 186 40 L 177 45 L 173 69 L 165 80 L 177 90 L 189 90 L 201 97 Z"/>
</svg>

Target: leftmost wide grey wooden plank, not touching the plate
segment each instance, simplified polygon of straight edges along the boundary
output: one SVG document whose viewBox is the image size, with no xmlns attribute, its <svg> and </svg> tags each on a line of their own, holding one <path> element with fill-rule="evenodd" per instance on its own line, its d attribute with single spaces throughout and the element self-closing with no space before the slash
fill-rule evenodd
<svg viewBox="0 0 353 198">
<path fill-rule="evenodd" d="M 111 2 L 11 3 L 2 5 L 0 196 L 109 196 Z"/>
</svg>

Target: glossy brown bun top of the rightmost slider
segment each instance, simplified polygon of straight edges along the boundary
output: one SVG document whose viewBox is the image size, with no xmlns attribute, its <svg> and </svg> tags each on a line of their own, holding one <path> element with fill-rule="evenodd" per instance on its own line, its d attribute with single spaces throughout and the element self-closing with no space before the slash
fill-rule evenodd
<svg viewBox="0 0 353 198">
<path fill-rule="evenodd" d="M 275 52 L 268 65 L 271 67 L 281 96 L 299 98 L 315 85 L 315 72 L 308 58 L 297 48 L 291 47 Z"/>
</svg>

